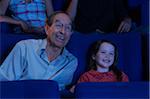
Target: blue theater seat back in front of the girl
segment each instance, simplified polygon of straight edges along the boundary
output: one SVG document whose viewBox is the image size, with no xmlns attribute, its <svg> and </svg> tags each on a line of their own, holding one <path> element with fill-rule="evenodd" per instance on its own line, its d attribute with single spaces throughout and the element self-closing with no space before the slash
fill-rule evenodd
<svg viewBox="0 0 150 99">
<path fill-rule="evenodd" d="M 80 83 L 76 99 L 149 99 L 148 82 Z"/>
</svg>

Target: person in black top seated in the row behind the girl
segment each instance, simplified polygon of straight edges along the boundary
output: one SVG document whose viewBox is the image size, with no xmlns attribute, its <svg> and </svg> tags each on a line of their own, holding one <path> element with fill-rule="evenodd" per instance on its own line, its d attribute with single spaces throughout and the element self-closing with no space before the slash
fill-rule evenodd
<svg viewBox="0 0 150 99">
<path fill-rule="evenodd" d="M 68 13 L 75 20 L 76 30 L 89 32 L 129 32 L 131 18 L 123 0 L 72 0 Z"/>
</svg>

